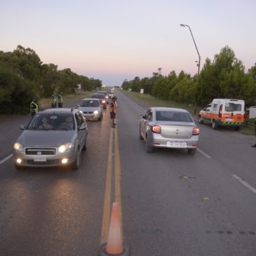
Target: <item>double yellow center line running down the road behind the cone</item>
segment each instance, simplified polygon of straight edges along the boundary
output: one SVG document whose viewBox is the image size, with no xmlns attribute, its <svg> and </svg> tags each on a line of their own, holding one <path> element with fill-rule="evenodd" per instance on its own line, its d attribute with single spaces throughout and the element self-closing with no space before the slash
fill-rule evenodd
<svg viewBox="0 0 256 256">
<path fill-rule="evenodd" d="M 113 165 L 114 161 L 114 165 Z M 114 175 L 113 175 L 114 174 Z M 114 178 L 114 187 L 112 188 L 112 180 Z M 114 196 L 112 196 L 112 189 L 114 189 Z M 109 156 L 107 160 L 107 177 L 105 187 L 105 200 L 103 206 L 103 218 L 102 218 L 102 232 L 101 232 L 101 244 L 107 242 L 107 232 L 109 229 L 109 220 L 111 213 L 112 200 L 119 205 L 119 217 L 121 224 L 121 236 L 123 241 L 123 221 L 122 221 L 122 207 L 121 207 L 121 166 L 120 166 L 120 154 L 119 154 L 119 139 L 117 134 L 117 128 L 110 129 L 109 135 Z"/>
</svg>

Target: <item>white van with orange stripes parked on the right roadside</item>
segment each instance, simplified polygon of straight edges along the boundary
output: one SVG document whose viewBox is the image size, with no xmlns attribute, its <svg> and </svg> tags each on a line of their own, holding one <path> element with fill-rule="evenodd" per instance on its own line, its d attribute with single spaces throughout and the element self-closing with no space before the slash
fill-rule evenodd
<svg viewBox="0 0 256 256">
<path fill-rule="evenodd" d="M 239 130 L 244 122 L 244 100 L 214 99 L 198 114 L 198 123 L 210 123 L 213 129 L 218 126 L 232 126 Z"/>
</svg>

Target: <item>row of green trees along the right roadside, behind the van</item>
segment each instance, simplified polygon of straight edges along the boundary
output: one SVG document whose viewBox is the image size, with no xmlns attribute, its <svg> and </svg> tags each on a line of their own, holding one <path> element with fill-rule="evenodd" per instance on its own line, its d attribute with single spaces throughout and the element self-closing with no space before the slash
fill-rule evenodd
<svg viewBox="0 0 256 256">
<path fill-rule="evenodd" d="M 206 59 L 199 76 L 191 76 L 184 71 L 168 76 L 161 74 L 161 68 L 150 78 L 135 77 L 132 81 L 123 81 L 123 89 L 132 89 L 163 100 L 187 102 L 187 104 L 206 105 L 213 98 L 236 98 L 245 100 L 246 105 L 256 103 L 256 63 L 248 72 L 241 60 L 229 46 L 225 46 L 214 60 Z"/>
</svg>

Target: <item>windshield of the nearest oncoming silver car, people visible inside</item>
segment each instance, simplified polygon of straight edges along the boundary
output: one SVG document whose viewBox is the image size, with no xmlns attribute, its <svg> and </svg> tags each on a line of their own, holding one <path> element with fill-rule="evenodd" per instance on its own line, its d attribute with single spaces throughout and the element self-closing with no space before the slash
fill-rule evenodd
<svg viewBox="0 0 256 256">
<path fill-rule="evenodd" d="M 72 114 L 37 114 L 27 130 L 74 130 Z"/>
</svg>

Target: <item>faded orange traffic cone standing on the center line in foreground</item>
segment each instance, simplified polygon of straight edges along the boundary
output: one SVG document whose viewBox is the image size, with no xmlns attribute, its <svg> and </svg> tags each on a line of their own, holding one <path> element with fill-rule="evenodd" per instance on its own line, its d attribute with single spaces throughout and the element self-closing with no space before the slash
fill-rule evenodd
<svg viewBox="0 0 256 256">
<path fill-rule="evenodd" d="M 106 252 L 112 255 L 123 252 L 118 203 L 113 203 L 112 206 L 112 216 L 109 224 L 109 233 L 107 235 Z"/>
</svg>

